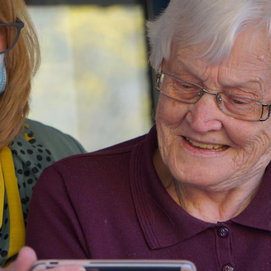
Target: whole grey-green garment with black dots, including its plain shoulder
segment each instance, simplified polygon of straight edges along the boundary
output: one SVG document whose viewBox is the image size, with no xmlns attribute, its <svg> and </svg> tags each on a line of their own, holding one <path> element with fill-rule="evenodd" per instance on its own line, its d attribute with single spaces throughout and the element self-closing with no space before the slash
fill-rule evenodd
<svg viewBox="0 0 271 271">
<path fill-rule="evenodd" d="M 48 138 L 56 140 L 49 140 Z M 23 219 L 27 225 L 27 216 L 30 199 L 36 180 L 43 169 L 50 166 L 55 160 L 69 155 L 84 152 L 76 140 L 59 131 L 44 126 L 38 122 L 27 120 L 24 131 L 11 143 L 10 149 L 14 162 L 14 170 L 18 180 L 18 191 L 22 203 Z M 7 259 L 9 250 L 9 205 L 4 190 L 4 209 L 2 225 L 0 225 L 0 267 L 16 258 L 16 255 Z"/>
</svg>

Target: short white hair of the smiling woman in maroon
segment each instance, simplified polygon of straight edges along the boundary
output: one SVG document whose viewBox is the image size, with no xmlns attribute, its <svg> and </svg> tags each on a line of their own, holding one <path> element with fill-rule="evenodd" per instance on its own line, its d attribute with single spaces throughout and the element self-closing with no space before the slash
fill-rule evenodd
<svg viewBox="0 0 271 271">
<path fill-rule="evenodd" d="M 180 48 L 204 43 L 198 57 L 217 63 L 229 56 L 238 34 L 255 24 L 271 35 L 271 0 L 171 0 L 147 22 L 151 66 L 158 69 L 169 59 L 173 40 Z"/>
</svg>

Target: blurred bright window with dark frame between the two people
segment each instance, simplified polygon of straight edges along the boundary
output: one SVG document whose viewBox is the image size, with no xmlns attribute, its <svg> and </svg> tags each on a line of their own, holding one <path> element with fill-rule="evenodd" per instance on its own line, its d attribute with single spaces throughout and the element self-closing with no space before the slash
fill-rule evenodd
<svg viewBox="0 0 271 271">
<path fill-rule="evenodd" d="M 145 21 L 169 0 L 28 0 L 41 45 L 30 118 L 98 150 L 147 133 L 157 94 Z"/>
</svg>

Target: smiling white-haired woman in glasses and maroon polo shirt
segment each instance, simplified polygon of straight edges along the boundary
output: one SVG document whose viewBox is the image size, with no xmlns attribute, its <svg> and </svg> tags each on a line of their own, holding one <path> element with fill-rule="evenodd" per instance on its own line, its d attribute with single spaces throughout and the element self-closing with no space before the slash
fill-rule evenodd
<svg viewBox="0 0 271 271">
<path fill-rule="evenodd" d="M 27 243 L 39 258 L 270 270 L 270 0 L 171 0 L 148 33 L 156 125 L 44 170 Z"/>
</svg>

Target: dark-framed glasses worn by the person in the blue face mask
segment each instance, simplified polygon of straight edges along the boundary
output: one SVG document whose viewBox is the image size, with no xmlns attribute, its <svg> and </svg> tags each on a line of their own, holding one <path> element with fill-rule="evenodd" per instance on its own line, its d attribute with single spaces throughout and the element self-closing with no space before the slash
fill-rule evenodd
<svg viewBox="0 0 271 271">
<path fill-rule="evenodd" d="M 0 23 L 0 39 L 5 41 L 5 49 L 0 49 L 0 54 L 7 53 L 15 46 L 24 26 L 18 18 L 15 23 Z"/>
</svg>

